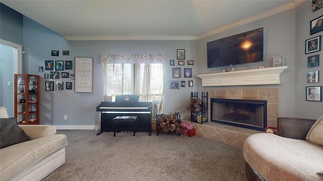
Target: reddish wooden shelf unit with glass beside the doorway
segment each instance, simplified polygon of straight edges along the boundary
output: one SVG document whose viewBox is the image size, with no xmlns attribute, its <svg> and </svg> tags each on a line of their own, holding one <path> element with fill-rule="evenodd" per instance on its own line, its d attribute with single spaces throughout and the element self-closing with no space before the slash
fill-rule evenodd
<svg viewBox="0 0 323 181">
<path fill-rule="evenodd" d="M 39 124 L 39 75 L 15 74 L 14 81 L 18 124 Z"/>
</svg>

